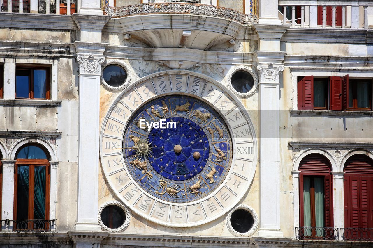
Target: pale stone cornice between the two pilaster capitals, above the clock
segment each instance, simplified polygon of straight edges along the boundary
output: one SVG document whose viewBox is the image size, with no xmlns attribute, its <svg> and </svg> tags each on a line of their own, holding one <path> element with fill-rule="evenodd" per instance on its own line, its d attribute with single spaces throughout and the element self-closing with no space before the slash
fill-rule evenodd
<svg viewBox="0 0 373 248">
<path fill-rule="evenodd" d="M 147 61 L 191 61 L 207 64 L 246 64 L 253 63 L 253 53 L 233 53 L 225 51 L 203 51 L 191 48 L 141 48 L 107 46 L 107 58 L 147 60 Z"/>
</svg>

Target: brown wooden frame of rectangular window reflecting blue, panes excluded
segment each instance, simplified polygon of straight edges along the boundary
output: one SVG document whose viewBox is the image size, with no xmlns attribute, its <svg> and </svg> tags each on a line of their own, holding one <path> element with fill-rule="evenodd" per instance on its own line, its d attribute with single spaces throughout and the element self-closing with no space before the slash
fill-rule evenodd
<svg viewBox="0 0 373 248">
<path fill-rule="evenodd" d="M 29 71 L 29 82 L 28 82 L 28 98 L 17 97 L 17 85 L 15 90 L 16 99 L 41 99 L 49 100 L 50 99 L 50 66 L 34 66 L 34 65 L 17 65 L 17 70 L 28 70 Z M 46 70 L 46 98 L 34 98 L 34 70 Z M 16 73 L 16 84 L 17 84 L 17 73 Z"/>
</svg>

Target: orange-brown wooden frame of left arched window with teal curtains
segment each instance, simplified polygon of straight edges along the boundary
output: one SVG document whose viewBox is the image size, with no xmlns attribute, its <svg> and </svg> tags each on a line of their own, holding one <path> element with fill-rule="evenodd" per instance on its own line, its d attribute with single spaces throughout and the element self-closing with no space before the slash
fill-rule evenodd
<svg viewBox="0 0 373 248">
<path fill-rule="evenodd" d="M 45 219 L 49 220 L 50 211 L 50 163 L 48 159 L 17 159 L 14 166 L 14 205 L 13 220 L 17 220 L 17 184 L 18 184 L 18 166 L 29 166 L 29 187 L 28 187 L 28 219 L 34 219 L 34 168 L 35 166 L 46 166 L 46 209 Z M 28 223 L 28 229 L 32 227 L 33 222 Z M 46 225 L 49 225 L 46 223 Z M 17 230 L 14 225 L 14 230 Z M 35 229 L 37 230 L 37 229 Z"/>
</svg>

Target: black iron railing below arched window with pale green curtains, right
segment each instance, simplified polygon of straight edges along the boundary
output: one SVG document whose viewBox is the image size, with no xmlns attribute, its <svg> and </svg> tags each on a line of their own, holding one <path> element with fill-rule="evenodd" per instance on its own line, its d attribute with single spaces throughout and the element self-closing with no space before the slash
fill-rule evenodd
<svg viewBox="0 0 373 248">
<path fill-rule="evenodd" d="M 303 226 L 295 228 L 297 239 L 339 240 L 338 228 Z"/>
</svg>

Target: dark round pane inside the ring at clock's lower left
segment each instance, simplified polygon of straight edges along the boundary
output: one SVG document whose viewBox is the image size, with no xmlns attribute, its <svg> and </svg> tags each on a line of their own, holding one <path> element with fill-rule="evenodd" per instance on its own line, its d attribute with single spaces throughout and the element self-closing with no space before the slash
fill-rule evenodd
<svg viewBox="0 0 373 248">
<path fill-rule="evenodd" d="M 106 206 L 101 212 L 102 223 L 111 229 L 119 228 L 126 220 L 124 210 L 116 205 Z"/>
</svg>

